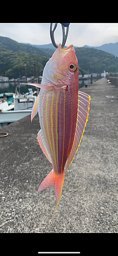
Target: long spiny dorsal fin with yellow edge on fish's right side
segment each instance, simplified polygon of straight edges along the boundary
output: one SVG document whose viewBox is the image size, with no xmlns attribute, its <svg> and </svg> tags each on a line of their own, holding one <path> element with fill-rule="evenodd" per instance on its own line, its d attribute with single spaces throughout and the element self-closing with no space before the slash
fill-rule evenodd
<svg viewBox="0 0 118 256">
<path fill-rule="evenodd" d="M 80 142 L 83 137 L 86 123 L 88 121 L 88 112 L 90 105 L 90 96 L 86 93 L 78 91 L 78 112 L 77 112 L 77 122 L 76 131 L 72 150 L 70 151 L 69 157 L 67 159 L 66 170 L 69 165 L 73 162 L 76 152 L 80 146 Z"/>
</svg>

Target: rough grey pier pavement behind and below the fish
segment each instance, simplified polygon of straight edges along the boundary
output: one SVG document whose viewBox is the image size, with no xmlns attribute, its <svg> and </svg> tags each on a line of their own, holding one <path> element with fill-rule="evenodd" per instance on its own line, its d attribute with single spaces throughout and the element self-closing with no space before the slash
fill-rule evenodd
<svg viewBox="0 0 118 256">
<path fill-rule="evenodd" d="M 118 89 L 102 78 L 81 91 L 91 96 L 88 122 L 48 230 L 56 199 L 53 187 L 37 194 L 52 170 L 36 139 L 38 115 L 0 130 L 9 134 L 0 138 L 1 233 L 118 232 Z"/>
</svg>

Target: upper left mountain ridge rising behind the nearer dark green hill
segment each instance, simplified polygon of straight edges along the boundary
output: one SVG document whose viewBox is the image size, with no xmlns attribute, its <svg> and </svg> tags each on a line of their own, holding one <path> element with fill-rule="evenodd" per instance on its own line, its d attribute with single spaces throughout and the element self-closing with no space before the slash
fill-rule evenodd
<svg viewBox="0 0 118 256">
<path fill-rule="evenodd" d="M 43 52 L 42 50 L 32 47 L 31 45 L 27 44 L 20 44 L 19 42 L 16 42 L 8 37 L 0 36 L 0 47 L 5 48 L 10 51 L 23 51 L 27 53 L 34 53 L 38 54 L 40 56 L 50 57 L 50 55 L 46 52 Z"/>
</svg>

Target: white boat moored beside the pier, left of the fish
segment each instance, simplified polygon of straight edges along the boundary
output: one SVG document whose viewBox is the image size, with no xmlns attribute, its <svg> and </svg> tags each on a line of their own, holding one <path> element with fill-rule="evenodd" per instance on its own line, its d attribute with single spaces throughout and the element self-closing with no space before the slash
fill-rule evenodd
<svg viewBox="0 0 118 256">
<path fill-rule="evenodd" d="M 32 89 L 28 90 L 29 93 L 22 95 L 16 90 L 16 93 L 12 94 L 13 102 L 11 104 L 8 104 L 7 99 L 0 101 L 0 123 L 15 122 L 31 114 L 37 95 L 33 95 Z"/>
</svg>

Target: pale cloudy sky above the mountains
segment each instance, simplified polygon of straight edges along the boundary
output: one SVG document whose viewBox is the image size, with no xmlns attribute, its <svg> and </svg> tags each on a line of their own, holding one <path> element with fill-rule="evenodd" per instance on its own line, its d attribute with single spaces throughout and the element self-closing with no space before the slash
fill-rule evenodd
<svg viewBox="0 0 118 256">
<path fill-rule="evenodd" d="M 31 45 L 51 44 L 50 23 L 1 23 L 0 36 Z M 55 41 L 56 44 L 62 42 L 59 23 L 55 30 Z M 97 47 L 110 42 L 118 42 L 118 23 L 70 23 L 65 45 Z"/>
</svg>

